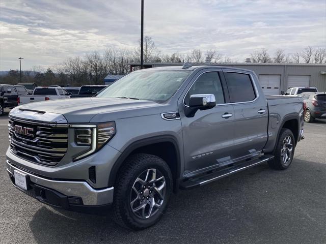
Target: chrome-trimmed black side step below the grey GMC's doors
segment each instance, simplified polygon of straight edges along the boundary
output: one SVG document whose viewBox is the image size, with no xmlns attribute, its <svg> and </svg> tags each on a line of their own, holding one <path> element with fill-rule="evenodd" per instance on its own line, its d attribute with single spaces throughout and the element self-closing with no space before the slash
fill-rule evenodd
<svg viewBox="0 0 326 244">
<path fill-rule="evenodd" d="M 210 174 L 201 175 L 198 178 L 188 179 L 188 180 L 185 180 L 180 183 L 180 188 L 181 189 L 189 189 L 189 188 L 203 186 L 212 181 L 215 181 L 215 180 L 221 179 L 225 176 L 228 176 L 230 174 L 234 174 L 236 172 L 239 172 L 239 171 L 242 171 L 245 169 L 249 169 L 258 164 L 265 163 L 273 158 L 274 158 L 273 155 L 264 155 L 258 159 L 252 160 L 252 161 L 244 162 L 244 163 L 238 164 L 233 167 L 229 167 L 226 169 L 212 172 Z"/>
</svg>

